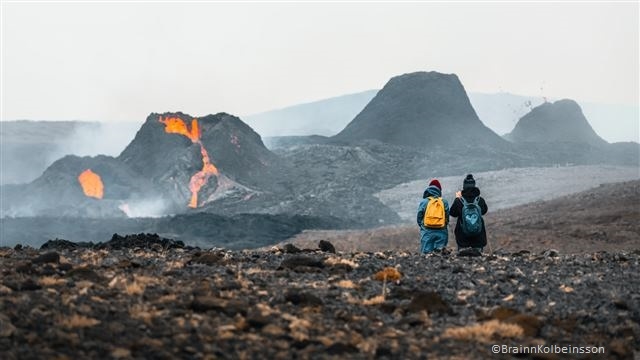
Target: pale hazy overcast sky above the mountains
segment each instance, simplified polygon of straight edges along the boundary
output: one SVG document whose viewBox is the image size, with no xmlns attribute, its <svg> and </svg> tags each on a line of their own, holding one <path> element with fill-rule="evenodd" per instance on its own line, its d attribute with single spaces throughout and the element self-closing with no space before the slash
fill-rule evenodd
<svg viewBox="0 0 640 360">
<path fill-rule="evenodd" d="M 395 75 L 638 104 L 638 3 L 2 3 L 2 119 L 257 113 Z"/>
</svg>

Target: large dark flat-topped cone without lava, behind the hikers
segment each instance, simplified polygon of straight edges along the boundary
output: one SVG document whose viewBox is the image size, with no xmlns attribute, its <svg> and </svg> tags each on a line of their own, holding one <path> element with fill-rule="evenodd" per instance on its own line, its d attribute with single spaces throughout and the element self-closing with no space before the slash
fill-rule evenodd
<svg viewBox="0 0 640 360">
<path fill-rule="evenodd" d="M 506 146 L 473 110 L 455 74 L 415 72 L 396 76 L 334 140 L 376 139 L 414 147 Z"/>
</svg>

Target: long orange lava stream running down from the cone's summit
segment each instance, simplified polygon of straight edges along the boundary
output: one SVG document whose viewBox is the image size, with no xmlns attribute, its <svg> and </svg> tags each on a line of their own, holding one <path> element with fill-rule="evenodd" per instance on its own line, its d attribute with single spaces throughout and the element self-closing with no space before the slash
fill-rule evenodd
<svg viewBox="0 0 640 360">
<path fill-rule="evenodd" d="M 202 170 L 191 176 L 189 181 L 189 190 L 191 191 L 191 201 L 189 201 L 189 207 L 198 207 L 198 192 L 209 181 L 211 175 L 218 176 L 218 168 L 211 163 L 209 159 L 209 153 L 204 148 L 200 141 L 200 127 L 198 126 L 198 119 L 191 120 L 191 130 L 187 127 L 184 121 L 177 117 L 169 117 L 163 119 L 162 116 L 158 119 L 165 125 L 164 131 L 169 134 L 180 134 L 191 139 L 193 143 L 200 145 L 200 153 L 202 154 Z"/>
</svg>

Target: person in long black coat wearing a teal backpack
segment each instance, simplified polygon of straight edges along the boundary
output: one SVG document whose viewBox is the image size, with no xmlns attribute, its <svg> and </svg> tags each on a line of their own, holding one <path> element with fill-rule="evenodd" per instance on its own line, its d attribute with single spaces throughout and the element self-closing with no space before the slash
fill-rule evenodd
<svg viewBox="0 0 640 360">
<path fill-rule="evenodd" d="M 462 191 L 456 193 L 449 211 L 451 216 L 458 218 L 454 234 L 459 254 L 482 253 L 487 245 L 487 231 L 482 215 L 488 210 L 487 203 L 480 196 L 480 189 L 476 187 L 476 180 L 472 174 L 468 174 L 462 183 Z"/>
</svg>

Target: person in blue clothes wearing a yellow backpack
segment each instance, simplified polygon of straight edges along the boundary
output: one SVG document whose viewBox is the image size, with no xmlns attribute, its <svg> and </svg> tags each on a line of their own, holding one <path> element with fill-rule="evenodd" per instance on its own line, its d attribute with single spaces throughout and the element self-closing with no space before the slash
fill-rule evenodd
<svg viewBox="0 0 640 360">
<path fill-rule="evenodd" d="M 441 252 L 449 242 L 449 204 L 442 199 L 442 186 L 437 179 L 431 180 L 418 205 L 420 227 L 420 252 Z"/>
</svg>

